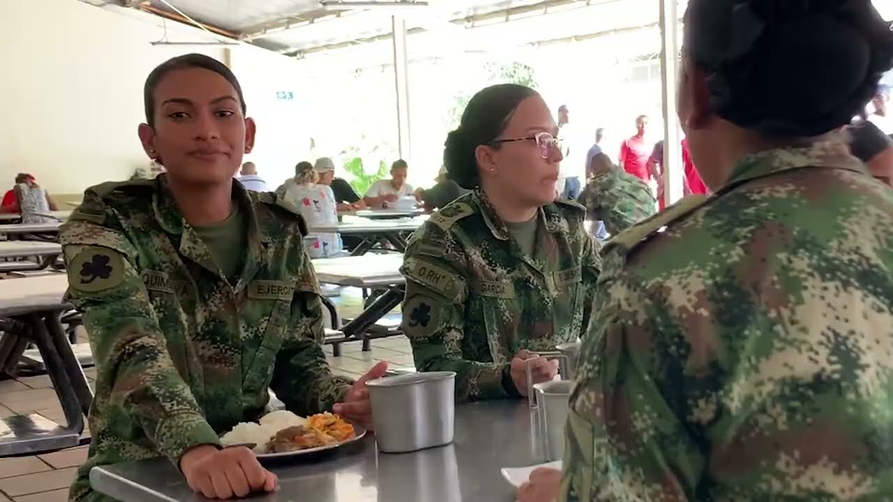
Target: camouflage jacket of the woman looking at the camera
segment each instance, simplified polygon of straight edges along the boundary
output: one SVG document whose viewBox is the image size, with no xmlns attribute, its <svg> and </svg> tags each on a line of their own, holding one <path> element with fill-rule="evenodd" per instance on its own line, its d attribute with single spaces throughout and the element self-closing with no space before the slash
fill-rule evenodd
<svg viewBox="0 0 893 502">
<path fill-rule="evenodd" d="M 272 389 L 312 414 L 343 397 L 321 349 L 319 284 L 303 220 L 233 183 L 250 214 L 238 283 L 223 278 L 179 213 L 166 176 L 89 188 L 60 230 L 69 296 L 84 313 L 96 360 L 89 459 L 71 489 L 90 491 L 96 464 L 218 444 L 256 420 Z"/>
</svg>

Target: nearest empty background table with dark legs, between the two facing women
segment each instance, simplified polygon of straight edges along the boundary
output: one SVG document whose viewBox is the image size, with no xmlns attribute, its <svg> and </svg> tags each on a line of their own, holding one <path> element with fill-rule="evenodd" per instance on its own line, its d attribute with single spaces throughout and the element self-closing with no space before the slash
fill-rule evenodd
<svg viewBox="0 0 893 502">
<path fill-rule="evenodd" d="M 340 328 L 346 341 L 362 339 L 363 351 L 368 352 L 371 349 L 371 339 L 379 338 L 369 332 L 371 326 L 403 301 L 406 280 L 400 273 L 402 264 L 403 255 L 394 253 L 313 260 L 313 269 L 320 282 L 342 287 L 383 290 L 361 314 Z M 399 331 L 385 333 L 385 336 L 396 334 Z"/>
</svg>

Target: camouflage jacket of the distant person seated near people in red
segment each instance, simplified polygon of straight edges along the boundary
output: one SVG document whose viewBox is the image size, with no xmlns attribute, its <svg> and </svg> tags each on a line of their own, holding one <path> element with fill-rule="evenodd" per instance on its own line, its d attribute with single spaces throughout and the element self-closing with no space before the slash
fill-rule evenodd
<svg viewBox="0 0 893 502">
<path fill-rule="evenodd" d="M 586 219 L 605 222 L 612 236 L 655 213 L 655 197 L 645 181 L 616 168 L 589 178 L 580 194 Z"/>
</svg>

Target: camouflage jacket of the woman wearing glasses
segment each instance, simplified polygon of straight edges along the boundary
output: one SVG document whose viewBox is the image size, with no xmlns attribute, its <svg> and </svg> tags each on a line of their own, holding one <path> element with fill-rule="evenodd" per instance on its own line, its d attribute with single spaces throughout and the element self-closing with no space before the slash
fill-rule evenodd
<svg viewBox="0 0 893 502">
<path fill-rule="evenodd" d="M 537 217 L 536 250 L 523 255 L 475 191 L 434 213 L 406 250 L 403 329 L 415 365 L 458 373 L 459 401 L 505 397 L 519 350 L 552 350 L 586 330 L 600 264 L 583 208 L 557 202 Z"/>
</svg>

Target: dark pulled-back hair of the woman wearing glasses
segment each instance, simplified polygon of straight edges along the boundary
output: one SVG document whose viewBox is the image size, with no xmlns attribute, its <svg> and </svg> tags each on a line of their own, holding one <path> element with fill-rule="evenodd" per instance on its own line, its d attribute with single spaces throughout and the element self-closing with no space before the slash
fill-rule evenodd
<svg viewBox="0 0 893 502">
<path fill-rule="evenodd" d="M 518 105 L 530 96 L 538 96 L 537 91 L 517 84 L 483 88 L 472 96 L 465 106 L 459 128 L 447 134 L 444 144 L 447 178 L 463 188 L 477 188 L 480 176 L 474 151 L 498 138 Z"/>
</svg>

